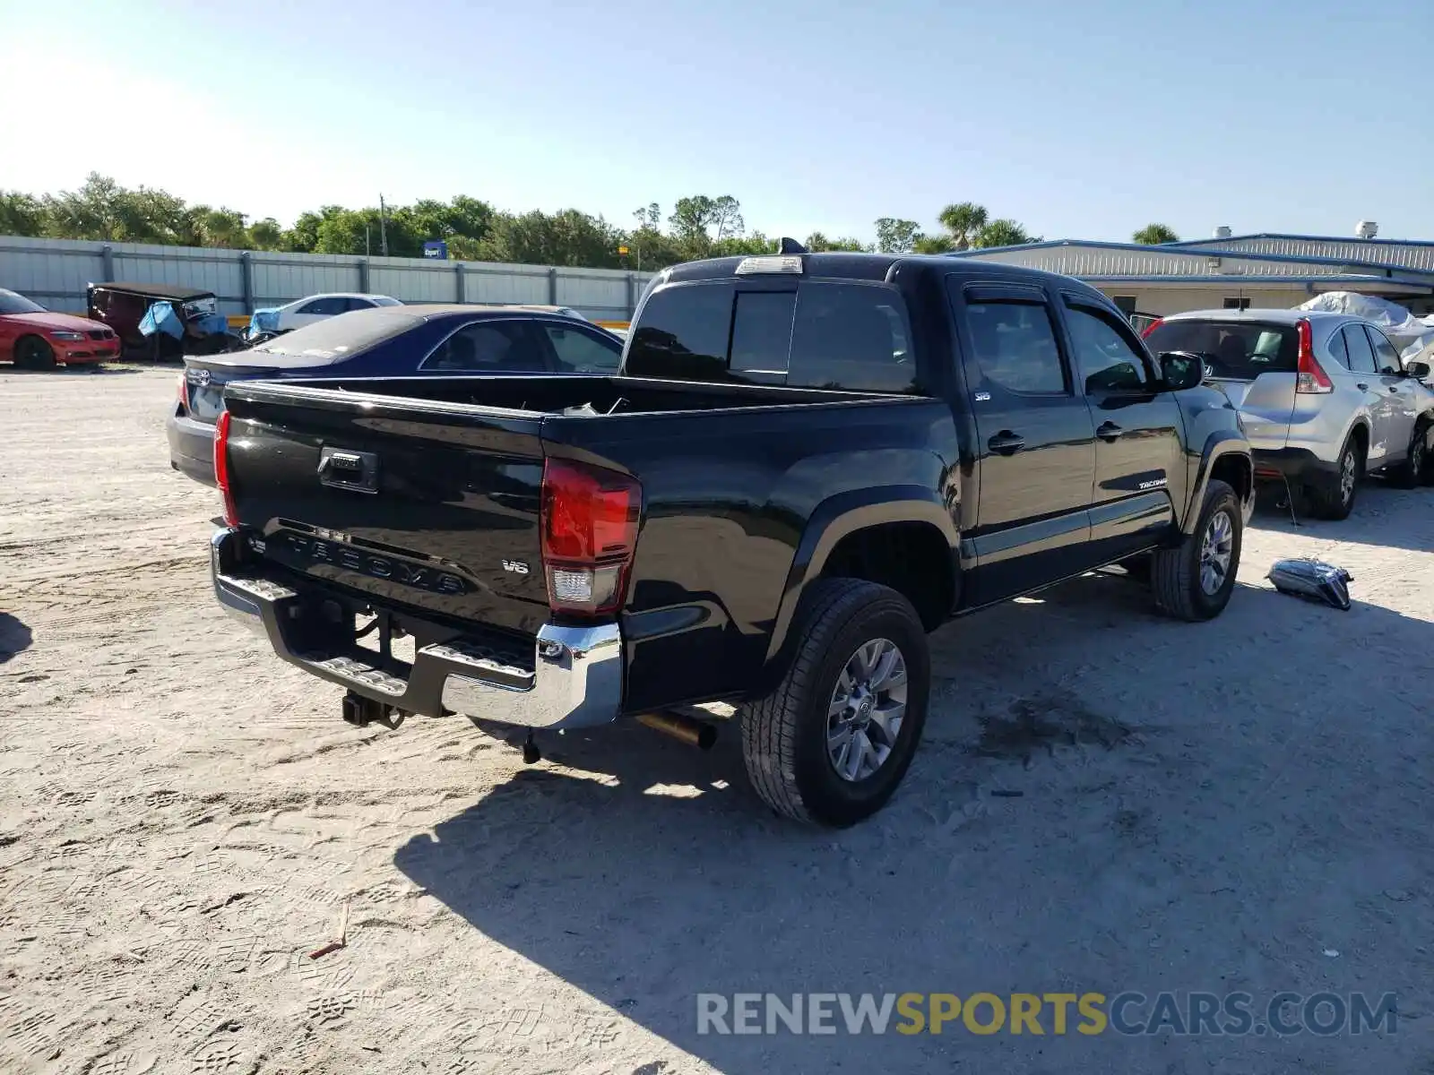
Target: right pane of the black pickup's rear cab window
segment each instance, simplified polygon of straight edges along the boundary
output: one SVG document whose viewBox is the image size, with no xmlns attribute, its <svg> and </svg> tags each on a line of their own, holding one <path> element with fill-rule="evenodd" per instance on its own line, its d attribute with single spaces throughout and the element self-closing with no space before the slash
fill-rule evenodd
<svg viewBox="0 0 1434 1075">
<path fill-rule="evenodd" d="M 733 360 L 736 364 L 736 337 Z M 787 384 L 913 393 L 916 366 L 896 292 L 869 284 L 803 284 Z"/>
</svg>

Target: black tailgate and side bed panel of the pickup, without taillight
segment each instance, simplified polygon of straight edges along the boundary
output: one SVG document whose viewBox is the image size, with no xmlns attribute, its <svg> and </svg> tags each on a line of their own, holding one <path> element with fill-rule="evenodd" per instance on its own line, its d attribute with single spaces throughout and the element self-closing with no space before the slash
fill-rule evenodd
<svg viewBox="0 0 1434 1075">
<path fill-rule="evenodd" d="M 644 684 L 691 697 L 764 651 L 804 522 L 862 466 L 858 446 L 879 446 L 873 483 L 936 489 L 955 462 L 926 450 L 949 410 L 915 396 L 585 376 L 241 381 L 225 400 L 237 515 L 284 585 L 469 634 L 531 641 L 551 619 L 545 462 L 637 477 L 630 668 L 650 661 Z M 582 404 L 611 413 L 564 413 Z M 336 452 L 360 463 L 321 473 Z M 661 669 L 677 631 L 711 646 L 680 685 Z"/>
</svg>

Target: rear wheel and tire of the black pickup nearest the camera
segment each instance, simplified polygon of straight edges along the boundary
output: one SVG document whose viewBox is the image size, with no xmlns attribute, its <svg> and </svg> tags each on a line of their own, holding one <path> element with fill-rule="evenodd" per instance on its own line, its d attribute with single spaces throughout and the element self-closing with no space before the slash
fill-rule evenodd
<svg viewBox="0 0 1434 1075">
<path fill-rule="evenodd" d="M 747 777 L 757 796 L 784 817 L 837 828 L 856 824 L 892 797 L 921 741 L 931 691 L 926 631 L 916 609 L 893 589 L 860 579 L 820 579 L 803 596 L 793 639 L 782 681 L 741 710 Z M 859 654 L 869 652 L 878 656 L 878 668 L 866 679 L 879 688 L 886 656 L 878 655 L 878 642 L 893 646 L 905 664 L 899 691 L 893 675 L 886 689 L 866 694 L 862 678 L 847 672 L 849 665 L 860 669 Z M 853 678 L 856 689 L 847 687 Z M 845 699 L 836 697 L 839 688 Z M 829 715 L 840 701 L 846 708 Z M 901 702 L 905 708 L 892 742 L 873 711 L 891 712 Z M 850 752 L 853 745 L 858 755 Z M 885 755 L 879 755 L 882 748 Z M 839 774 L 839 761 L 855 774 Z M 863 761 L 875 765 L 865 775 Z"/>
</svg>

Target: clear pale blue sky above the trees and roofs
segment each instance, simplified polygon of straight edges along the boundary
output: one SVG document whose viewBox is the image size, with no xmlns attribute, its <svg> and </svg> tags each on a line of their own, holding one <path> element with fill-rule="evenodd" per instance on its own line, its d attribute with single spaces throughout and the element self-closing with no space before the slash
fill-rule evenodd
<svg viewBox="0 0 1434 1075">
<path fill-rule="evenodd" d="M 0 0 L 0 188 L 1434 238 L 1430 0 Z M 153 136 L 146 135 L 146 126 Z M 175 128 L 182 126 L 185 133 Z M 1423 136 L 1417 133 L 1423 126 Z M 23 149 L 22 149 L 23 148 Z"/>
</svg>

